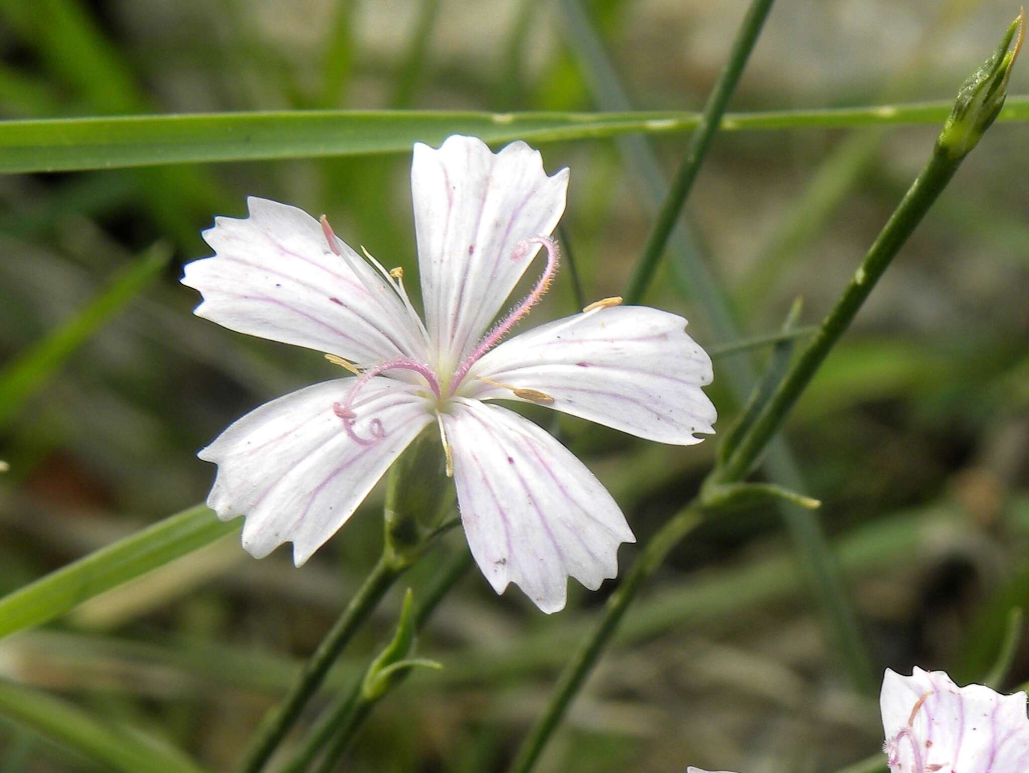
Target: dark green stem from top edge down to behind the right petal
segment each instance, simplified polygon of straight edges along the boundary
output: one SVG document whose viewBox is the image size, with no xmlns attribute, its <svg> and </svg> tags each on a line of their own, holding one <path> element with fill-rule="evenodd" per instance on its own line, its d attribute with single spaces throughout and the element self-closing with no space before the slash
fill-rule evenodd
<svg viewBox="0 0 1029 773">
<path fill-rule="evenodd" d="M 704 163 L 704 157 L 711 146 L 711 140 L 714 139 L 714 134 L 721 124 L 729 99 L 736 91 L 736 84 L 740 80 L 750 51 L 753 50 L 757 36 L 760 35 L 761 27 L 765 25 L 765 20 L 768 19 L 769 11 L 772 9 L 772 2 L 773 0 L 752 0 L 747 9 L 747 15 L 744 16 L 736 40 L 733 42 L 729 62 L 725 63 L 721 75 L 718 76 L 718 82 L 715 83 L 714 90 L 708 98 L 700 124 L 696 131 L 689 135 L 686 157 L 683 159 L 682 165 L 675 173 L 672 187 L 664 205 L 662 205 L 661 213 L 650 232 L 650 238 L 643 249 L 643 255 L 629 280 L 629 289 L 626 291 L 627 304 L 639 303 L 658 269 L 658 262 L 665 251 L 668 237 L 671 236 L 672 229 L 678 222 L 679 213 L 694 187 L 697 173 L 700 172 L 701 164 Z"/>
</svg>

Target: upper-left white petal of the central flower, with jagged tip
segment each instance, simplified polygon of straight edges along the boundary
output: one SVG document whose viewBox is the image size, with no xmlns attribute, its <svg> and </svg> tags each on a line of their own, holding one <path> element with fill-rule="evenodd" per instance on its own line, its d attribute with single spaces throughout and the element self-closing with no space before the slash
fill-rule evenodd
<svg viewBox="0 0 1029 773">
<path fill-rule="evenodd" d="M 368 363 L 425 360 L 425 342 L 397 293 L 321 224 L 296 207 L 247 199 L 250 216 L 217 217 L 204 239 L 215 255 L 185 267 L 200 290 L 198 316 L 232 330 Z M 369 289 L 370 288 L 370 291 Z"/>
</svg>

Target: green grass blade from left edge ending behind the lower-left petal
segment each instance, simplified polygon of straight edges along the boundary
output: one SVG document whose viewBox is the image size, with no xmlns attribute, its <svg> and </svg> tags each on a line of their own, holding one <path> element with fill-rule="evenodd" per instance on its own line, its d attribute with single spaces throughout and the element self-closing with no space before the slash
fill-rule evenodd
<svg viewBox="0 0 1029 773">
<path fill-rule="evenodd" d="M 202 504 L 166 518 L 0 599 L 0 637 L 54 620 L 239 528 Z"/>
</svg>

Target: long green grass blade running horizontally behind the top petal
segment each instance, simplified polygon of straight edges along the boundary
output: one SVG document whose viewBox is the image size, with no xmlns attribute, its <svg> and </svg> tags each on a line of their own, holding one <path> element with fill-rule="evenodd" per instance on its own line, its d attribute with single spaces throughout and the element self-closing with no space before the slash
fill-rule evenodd
<svg viewBox="0 0 1029 773">
<path fill-rule="evenodd" d="M 832 129 L 933 124 L 950 105 L 912 105 L 728 114 L 723 131 Z M 487 142 L 552 142 L 625 134 L 686 132 L 694 112 L 522 112 L 312 110 L 128 115 L 0 124 L 0 172 L 62 172 L 191 162 L 307 159 L 406 152 L 451 134 Z M 1029 120 L 1029 98 L 1010 98 L 998 120 Z"/>
</svg>

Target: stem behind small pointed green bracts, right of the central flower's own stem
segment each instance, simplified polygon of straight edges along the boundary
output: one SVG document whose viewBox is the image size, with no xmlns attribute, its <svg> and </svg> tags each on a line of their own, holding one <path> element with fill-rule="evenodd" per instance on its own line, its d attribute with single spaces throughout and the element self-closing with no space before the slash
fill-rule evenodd
<svg viewBox="0 0 1029 773">
<path fill-rule="evenodd" d="M 421 630 L 443 596 L 471 567 L 471 554 L 462 550 L 443 567 L 436 581 L 429 587 L 425 598 L 415 611 L 415 629 Z M 322 749 L 326 749 L 321 766 L 317 770 L 331 770 L 350 746 L 364 721 L 380 699 L 368 701 L 361 697 L 362 679 L 357 679 L 346 695 L 341 696 L 319 718 L 304 745 L 280 773 L 301 773 L 307 770 Z"/>
</svg>

